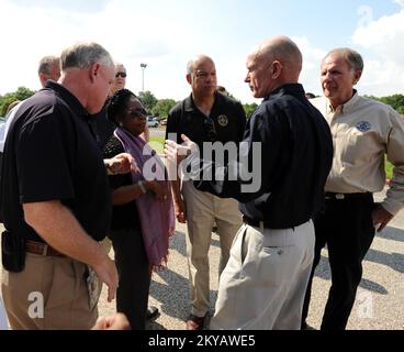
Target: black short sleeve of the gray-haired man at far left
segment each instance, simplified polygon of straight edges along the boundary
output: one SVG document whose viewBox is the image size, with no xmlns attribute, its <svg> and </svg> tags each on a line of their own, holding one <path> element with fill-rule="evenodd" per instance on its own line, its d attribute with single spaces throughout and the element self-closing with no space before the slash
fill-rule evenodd
<svg viewBox="0 0 404 352">
<path fill-rule="evenodd" d="M 71 199 L 75 136 L 58 113 L 38 117 L 16 139 L 20 202 Z"/>
</svg>

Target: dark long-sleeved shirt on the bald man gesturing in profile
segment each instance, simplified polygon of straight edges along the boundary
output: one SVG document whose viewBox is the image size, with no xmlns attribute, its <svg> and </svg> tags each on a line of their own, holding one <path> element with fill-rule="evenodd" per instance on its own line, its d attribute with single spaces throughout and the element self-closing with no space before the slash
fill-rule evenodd
<svg viewBox="0 0 404 352">
<path fill-rule="evenodd" d="M 195 182 L 195 187 L 236 198 L 245 216 L 265 221 L 270 229 L 289 229 L 312 219 L 324 202 L 333 140 L 328 123 L 305 98 L 303 87 L 284 85 L 265 98 L 248 120 L 244 142 L 248 145 L 240 150 L 244 168 L 254 160 L 252 143 L 261 146 L 256 155 L 259 167 L 254 169 L 260 178 L 258 190 L 243 191 L 242 185 L 250 182 L 240 176 L 238 182 Z"/>
</svg>

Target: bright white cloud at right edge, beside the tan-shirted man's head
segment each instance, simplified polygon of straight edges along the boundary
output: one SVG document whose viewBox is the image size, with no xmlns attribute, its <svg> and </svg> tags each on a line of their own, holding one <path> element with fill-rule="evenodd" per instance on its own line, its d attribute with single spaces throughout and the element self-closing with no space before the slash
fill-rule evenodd
<svg viewBox="0 0 404 352">
<path fill-rule="evenodd" d="M 404 6 L 404 0 L 394 1 Z M 363 50 L 364 74 L 361 86 L 366 94 L 386 96 L 403 91 L 404 81 L 404 10 L 359 25 L 352 43 Z"/>
</svg>

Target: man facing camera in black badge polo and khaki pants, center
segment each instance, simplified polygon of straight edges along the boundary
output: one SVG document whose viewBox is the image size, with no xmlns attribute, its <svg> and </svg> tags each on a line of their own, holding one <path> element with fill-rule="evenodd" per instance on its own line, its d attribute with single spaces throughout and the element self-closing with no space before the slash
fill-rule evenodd
<svg viewBox="0 0 404 352">
<path fill-rule="evenodd" d="M 233 142 L 238 145 L 243 140 L 246 114 L 239 102 L 217 92 L 216 68 L 212 58 L 200 55 L 191 59 L 187 81 L 192 94 L 171 110 L 166 139 L 181 143 L 181 134 L 184 133 L 198 143 L 201 151 L 206 143 L 218 142 L 224 145 Z M 212 227 L 216 222 L 221 240 L 221 274 L 242 224 L 242 215 L 235 199 L 222 199 L 199 191 L 192 182 L 182 182 L 181 187 L 180 182 L 172 182 L 172 189 L 177 219 L 182 223 L 188 222 L 187 252 L 192 309 L 187 329 L 201 330 L 210 308 L 207 252 Z"/>
</svg>

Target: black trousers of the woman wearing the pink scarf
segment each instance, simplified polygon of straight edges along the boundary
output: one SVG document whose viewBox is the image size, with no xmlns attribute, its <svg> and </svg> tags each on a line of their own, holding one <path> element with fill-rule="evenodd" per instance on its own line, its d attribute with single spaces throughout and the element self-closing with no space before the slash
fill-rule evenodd
<svg viewBox="0 0 404 352">
<path fill-rule="evenodd" d="M 120 277 L 116 290 L 116 310 L 126 315 L 133 330 L 145 330 L 150 266 L 141 230 L 112 231 Z"/>
</svg>

